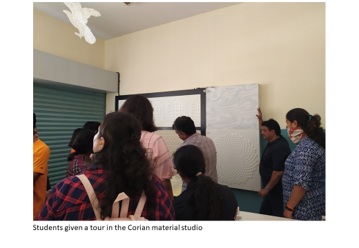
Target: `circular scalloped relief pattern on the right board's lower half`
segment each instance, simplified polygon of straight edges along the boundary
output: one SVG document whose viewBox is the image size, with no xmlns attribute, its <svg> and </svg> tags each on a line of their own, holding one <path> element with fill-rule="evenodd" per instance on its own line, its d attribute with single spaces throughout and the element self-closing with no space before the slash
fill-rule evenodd
<svg viewBox="0 0 359 248">
<path fill-rule="evenodd" d="M 216 138 L 218 179 L 229 184 L 246 183 L 258 166 L 255 148 L 239 134 Z"/>
</svg>

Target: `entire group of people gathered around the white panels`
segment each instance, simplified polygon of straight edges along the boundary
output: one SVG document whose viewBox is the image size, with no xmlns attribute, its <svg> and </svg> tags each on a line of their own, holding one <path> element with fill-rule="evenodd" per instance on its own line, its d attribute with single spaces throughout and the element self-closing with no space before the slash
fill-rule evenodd
<svg viewBox="0 0 359 248">
<path fill-rule="evenodd" d="M 311 117 L 319 120 L 319 125 L 313 121 L 304 124 L 298 115 L 287 114 L 289 134 L 294 139 L 299 137 L 298 146 L 291 154 L 280 130 L 278 134 L 277 127 L 271 126 L 273 120 L 262 121 L 261 113 L 258 118 L 262 134 L 269 141 L 260 162 L 265 186 L 259 192 L 264 197 L 260 211 L 283 216 L 285 203 L 292 211 L 285 209 L 284 217 L 314 219 L 315 211 L 321 213 L 324 206 L 324 189 L 321 191 L 321 178 L 318 178 L 319 174 L 324 175 L 324 143 L 319 143 L 322 141 L 316 138 L 320 134 L 307 126 L 313 123 L 321 128 L 320 117 Z M 38 139 L 35 130 L 34 123 L 34 220 L 127 218 L 138 216 L 137 207 L 142 207 L 140 216 L 147 220 L 235 220 L 237 200 L 229 187 L 217 183 L 213 141 L 197 134 L 190 117 L 179 116 L 173 130 L 184 142 L 170 154 L 164 138 L 154 133 L 157 127 L 153 107 L 144 96 L 130 96 L 119 111 L 104 116 L 102 123 L 88 122 L 75 130 L 69 143 L 72 151 L 68 156 L 66 178 L 51 189 L 48 197 L 43 178 L 46 182 L 50 149 Z M 309 153 L 305 155 L 305 163 L 304 152 Z M 320 152 L 322 160 L 318 158 Z M 35 166 L 40 157 L 41 162 Z M 171 178 L 176 171 L 183 185 L 182 193 L 174 197 Z M 90 192 L 95 192 L 98 206 L 90 200 L 93 199 Z M 321 203 L 318 203 L 318 192 L 323 194 Z M 128 201 L 122 200 L 126 198 Z M 98 209 L 98 213 L 94 209 Z"/>
</svg>

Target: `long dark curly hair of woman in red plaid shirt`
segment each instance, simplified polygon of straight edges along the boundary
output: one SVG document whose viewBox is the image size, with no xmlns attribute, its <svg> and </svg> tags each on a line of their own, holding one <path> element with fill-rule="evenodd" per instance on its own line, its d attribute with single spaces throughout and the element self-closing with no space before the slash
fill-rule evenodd
<svg viewBox="0 0 359 248">
<path fill-rule="evenodd" d="M 147 209 L 155 214 L 156 190 L 146 150 L 139 143 L 142 127 L 136 118 L 122 112 L 104 117 L 97 138 L 104 137 L 104 148 L 95 154 L 94 164 L 108 167 L 106 189 L 101 202 L 101 218 L 110 216 L 118 194 L 139 195 L 144 190 Z"/>
</svg>

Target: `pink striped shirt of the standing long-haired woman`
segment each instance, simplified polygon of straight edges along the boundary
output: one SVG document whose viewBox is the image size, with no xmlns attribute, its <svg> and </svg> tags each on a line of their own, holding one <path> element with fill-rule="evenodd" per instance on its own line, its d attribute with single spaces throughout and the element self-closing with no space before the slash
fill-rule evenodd
<svg viewBox="0 0 359 248">
<path fill-rule="evenodd" d="M 146 149 L 146 156 L 154 169 L 153 174 L 161 180 L 175 176 L 176 172 L 164 138 L 152 132 L 142 131 L 140 142 Z"/>
</svg>

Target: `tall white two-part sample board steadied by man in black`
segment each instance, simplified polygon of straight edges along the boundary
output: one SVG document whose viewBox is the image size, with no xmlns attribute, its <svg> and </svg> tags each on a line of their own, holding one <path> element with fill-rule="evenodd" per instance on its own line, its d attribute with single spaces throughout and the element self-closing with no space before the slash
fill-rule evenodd
<svg viewBox="0 0 359 248">
<path fill-rule="evenodd" d="M 215 143 L 222 185 L 260 190 L 258 86 L 206 88 L 206 136 Z"/>
</svg>

